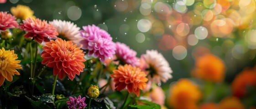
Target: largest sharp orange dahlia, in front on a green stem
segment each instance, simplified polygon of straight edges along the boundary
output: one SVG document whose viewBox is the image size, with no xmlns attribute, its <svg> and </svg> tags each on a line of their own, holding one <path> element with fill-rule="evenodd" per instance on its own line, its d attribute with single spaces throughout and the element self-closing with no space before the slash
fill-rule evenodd
<svg viewBox="0 0 256 109">
<path fill-rule="evenodd" d="M 71 41 L 62 39 L 50 40 L 42 48 L 44 51 L 41 54 L 43 58 L 42 64 L 53 68 L 53 75 L 57 75 L 63 79 L 67 74 L 68 78 L 73 80 L 76 74 L 84 69 L 84 54 L 83 50 L 73 45 Z"/>
</svg>

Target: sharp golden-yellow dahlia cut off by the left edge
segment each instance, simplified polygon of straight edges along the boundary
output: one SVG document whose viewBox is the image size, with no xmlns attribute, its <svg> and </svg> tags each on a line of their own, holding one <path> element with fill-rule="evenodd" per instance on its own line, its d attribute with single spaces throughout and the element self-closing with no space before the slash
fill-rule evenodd
<svg viewBox="0 0 256 109">
<path fill-rule="evenodd" d="M 0 86 L 3 85 L 5 79 L 12 81 L 14 74 L 20 75 L 16 69 L 22 69 L 19 64 L 21 61 L 18 59 L 17 54 L 14 54 L 14 50 L 0 49 Z"/>
</svg>

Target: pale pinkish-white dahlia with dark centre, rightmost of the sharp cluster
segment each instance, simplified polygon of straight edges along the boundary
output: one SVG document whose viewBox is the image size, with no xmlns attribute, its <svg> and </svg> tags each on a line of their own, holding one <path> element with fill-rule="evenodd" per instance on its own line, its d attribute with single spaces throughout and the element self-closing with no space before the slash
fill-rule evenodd
<svg viewBox="0 0 256 109">
<path fill-rule="evenodd" d="M 172 78 L 172 69 L 169 63 L 157 50 L 146 50 L 146 54 L 142 54 L 141 59 L 145 61 L 145 66 L 149 70 L 149 78 L 151 80 L 160 83 L 161 80 L 166 82 Z"/>
</svg>

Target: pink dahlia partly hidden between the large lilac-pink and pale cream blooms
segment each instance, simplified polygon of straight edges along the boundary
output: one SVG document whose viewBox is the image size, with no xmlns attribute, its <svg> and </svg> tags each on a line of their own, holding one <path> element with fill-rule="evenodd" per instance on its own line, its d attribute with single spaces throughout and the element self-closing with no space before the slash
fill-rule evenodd
<svg viewBox="0 0 256 109">
<path fill-rule="evenodd" d="M 139 66 L 140 62 L 136 57 L 136 51 L 131 50 L 130 47 L 120 42 L 115 43 L 115 46 L 115 55 L 117 59 L 120 60 L 120 64 L 131 64 L 132 66 Z"/>
</svg>

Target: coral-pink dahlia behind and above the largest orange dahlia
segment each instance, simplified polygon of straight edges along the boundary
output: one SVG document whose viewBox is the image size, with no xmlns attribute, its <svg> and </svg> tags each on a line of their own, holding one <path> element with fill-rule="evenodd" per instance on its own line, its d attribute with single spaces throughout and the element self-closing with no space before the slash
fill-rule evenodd
<svg viewBox="0 0 256 109">
<path fill-rule="evenodd" d="M 38 43 L 42 41 L 48 42 L 50 39 L 57 39 L 58 32 L 52 24 L 48 24 L 46 20 L 27 18 L 23 20 L 20 29 L 28 33 L 24 35 L 26 38 L 34 38 Z"/>
</svg>

